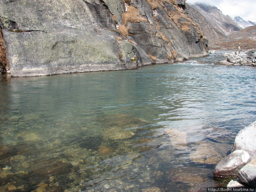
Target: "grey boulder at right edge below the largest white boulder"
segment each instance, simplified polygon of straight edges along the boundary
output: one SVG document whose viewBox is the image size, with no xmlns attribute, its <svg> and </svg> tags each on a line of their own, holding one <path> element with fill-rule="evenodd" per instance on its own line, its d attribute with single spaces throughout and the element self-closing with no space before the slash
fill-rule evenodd
<svg viewBox="0 0 256 192">
<path fill-rule="evenodd" d="M 243 166 L 238 177 L 243 183 L 256 187 L 256 159 Z"/>
</svg>

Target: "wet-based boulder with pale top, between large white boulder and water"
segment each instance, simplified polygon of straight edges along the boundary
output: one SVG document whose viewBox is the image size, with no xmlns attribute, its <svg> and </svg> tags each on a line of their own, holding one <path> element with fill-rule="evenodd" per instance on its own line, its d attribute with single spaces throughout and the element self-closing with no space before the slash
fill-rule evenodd
<svg viewBox="0 0 256 192">
<path fill-rule="evenodd" d="M 239 170 L 250 161 L 250 155 L 243 150 L 236 150 L 224 157 L 215 167 L 215 176 L 237 176 Z"/>
</svg>

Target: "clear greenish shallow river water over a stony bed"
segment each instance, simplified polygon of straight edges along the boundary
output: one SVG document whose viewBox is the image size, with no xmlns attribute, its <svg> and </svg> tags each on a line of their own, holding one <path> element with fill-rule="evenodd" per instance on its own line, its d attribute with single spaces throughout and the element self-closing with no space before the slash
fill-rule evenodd
<svg viewBox="0 0 256 192">
<path fill-rule="evenodd" d="M 256 120 L 256 68 L 221 54 L 0 79 L 0 191 L 186 191 Z"/>
</svg>

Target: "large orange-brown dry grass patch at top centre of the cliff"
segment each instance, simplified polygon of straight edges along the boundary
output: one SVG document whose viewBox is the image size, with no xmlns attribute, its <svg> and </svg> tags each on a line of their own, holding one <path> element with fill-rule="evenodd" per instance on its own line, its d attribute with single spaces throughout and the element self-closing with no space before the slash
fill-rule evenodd
<svg viewBox="0 0 256 192">
<path fill-rule="evenodd" d="M 125 26 L 127 25 L 128 22 L 130 23 L 148 22 L 147 19 L 141 16 L 140 11 L 133 6 L 127 6 L 127 11 L 122 14 L 122 20 Z"/>
</svg>

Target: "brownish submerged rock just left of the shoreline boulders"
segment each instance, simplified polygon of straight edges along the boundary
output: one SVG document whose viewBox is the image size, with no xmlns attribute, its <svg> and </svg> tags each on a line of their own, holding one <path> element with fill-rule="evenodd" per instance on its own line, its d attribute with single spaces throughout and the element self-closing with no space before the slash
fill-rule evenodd
<svg viewBox="0 0 256 192">
<path fill-rule="evenodd" d="M 221 160 L 219 152 L 209 143 L 200 143 L 189 155 L 191 161 L 196 163 L 217 164 Z"/>
</svg>

